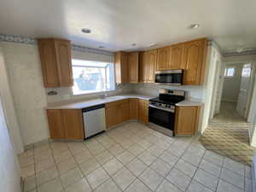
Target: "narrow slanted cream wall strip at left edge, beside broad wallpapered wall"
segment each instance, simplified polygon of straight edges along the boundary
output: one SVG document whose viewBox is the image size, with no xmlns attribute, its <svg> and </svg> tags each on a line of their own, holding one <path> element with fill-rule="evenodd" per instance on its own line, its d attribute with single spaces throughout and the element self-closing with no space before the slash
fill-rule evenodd
<svg viewBox="0 0 256 192">
<path fill-rule="evenodd" d="M 15 105 L 13 95 L 9 86 L 8 73 L 3 59 L 3 50 L 0 47 L 0 95 L 3 99 L 5 113 L 7 115 L 7 124 L 12 143 L 14 143 L 15 153 L 23 152 L 23 143 L 20 137 L 20 126 L 15 113 Z"/>
</svg>

